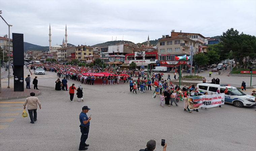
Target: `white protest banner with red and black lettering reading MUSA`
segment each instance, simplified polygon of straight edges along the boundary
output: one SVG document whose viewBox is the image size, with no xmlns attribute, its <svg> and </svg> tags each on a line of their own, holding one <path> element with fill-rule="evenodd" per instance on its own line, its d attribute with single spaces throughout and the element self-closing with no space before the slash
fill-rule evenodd
<svg viewBox="0 0 256 151">
<path fill-rule="evenodd" d="M 188 97 L 188 108 L 198 109 L 199 107 L 215 107 L 224 104 L 225 93 L 214 95 L 201 95 L 197 97 Z"/>
</svg>

